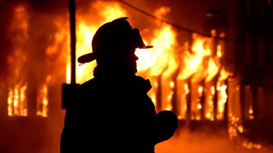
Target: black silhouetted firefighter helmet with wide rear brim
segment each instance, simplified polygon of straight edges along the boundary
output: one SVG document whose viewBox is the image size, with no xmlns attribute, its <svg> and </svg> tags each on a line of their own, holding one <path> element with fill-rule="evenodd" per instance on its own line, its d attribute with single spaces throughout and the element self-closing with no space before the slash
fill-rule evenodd
<svg viewBox="0 0 273 153">
<path fill-rule="evenodd" d="M 112 50 L 122 52 L 123 48 L 152 48 L 144 44 L 139 30 L 132 29 L 127 20 L 128 17 L 121 17 L 99 27 L 92 39 L 92 53 L 80 56 L 80 65 L 117 54 Z"/>
</svg>

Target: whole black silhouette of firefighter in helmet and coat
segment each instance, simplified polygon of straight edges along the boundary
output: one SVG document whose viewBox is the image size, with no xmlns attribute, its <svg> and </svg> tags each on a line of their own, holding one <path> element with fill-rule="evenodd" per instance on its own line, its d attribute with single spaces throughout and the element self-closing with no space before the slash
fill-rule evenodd
<svg viewBox="0 0 273 153">
<path fill-rule="evenodd" d="M 103 24 L 92 39 L 94 78 L 78 86 L 67 103 L 60 152 L 154 153 L 154 146 L 177 129 L 171 111 L 158 114 L 147 92 L 150 81 L 136 76 L 135 49 L 146 49 L 127 17 Z M 81 65 L 80 64 L 80 65 Z"/>
</svg>

